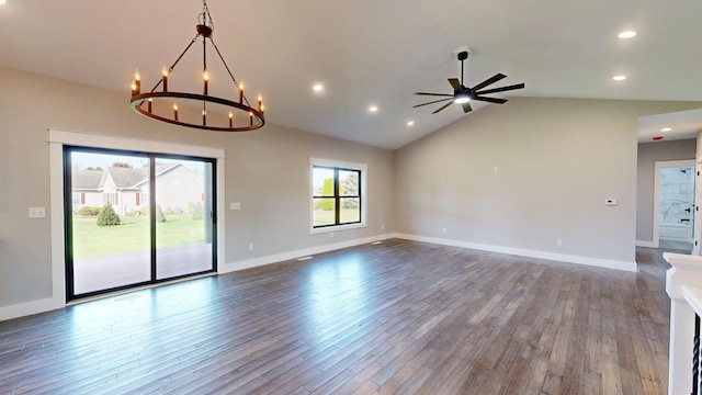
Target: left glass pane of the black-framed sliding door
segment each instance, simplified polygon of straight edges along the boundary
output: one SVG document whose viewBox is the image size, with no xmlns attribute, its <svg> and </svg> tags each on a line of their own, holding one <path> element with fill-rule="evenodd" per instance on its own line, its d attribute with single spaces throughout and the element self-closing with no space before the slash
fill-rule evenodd
<svg viewBox="0 0 702 395">
<path fill-rule="evenodd" d="M 151 279 L 148 158 L 73 150 L 71 221 L 73 295 Z M 78 199 L 76 199 L 78 198 Z"/>
</svg>

